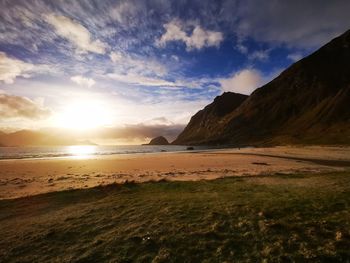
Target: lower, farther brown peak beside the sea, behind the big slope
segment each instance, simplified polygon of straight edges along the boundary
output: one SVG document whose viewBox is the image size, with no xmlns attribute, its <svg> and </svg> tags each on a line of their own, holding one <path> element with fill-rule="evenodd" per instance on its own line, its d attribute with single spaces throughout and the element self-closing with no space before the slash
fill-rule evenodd
<svg viewBox="0 0 350 263">
<path fill-rule="evenodd" d="M 224 121 L 225 116 L 240 106 L 247 95 L 225 92 L 203 110 L 197 112 L 184 131 L 173 142 L 174 144 L 205 144 L 210 142 L 217 125 Z"/>
</svg>

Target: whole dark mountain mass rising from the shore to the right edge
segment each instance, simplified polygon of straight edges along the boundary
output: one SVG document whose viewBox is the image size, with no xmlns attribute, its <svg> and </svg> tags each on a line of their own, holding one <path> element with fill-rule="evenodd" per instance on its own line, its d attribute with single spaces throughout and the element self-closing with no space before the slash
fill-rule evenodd
<svg viewBox="0 0 350 263">
<path fill-rule="evenodd" d="M 223 117 L 210 114 L 213 104 L 192 117 L 174 144 L 350 144 L 350 30 Z"/>
</svg>

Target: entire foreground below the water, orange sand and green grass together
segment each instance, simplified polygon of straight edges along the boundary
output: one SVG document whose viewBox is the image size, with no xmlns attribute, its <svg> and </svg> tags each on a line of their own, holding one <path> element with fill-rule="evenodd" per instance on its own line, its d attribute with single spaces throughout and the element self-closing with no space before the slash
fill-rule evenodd
<svg viewBox="0 0 350 263">
<path fill-rule="evenodd" d="M 283 146 L 1 160 L 0 261 L 347 262 L 349 156 Z"/>
</svg>

